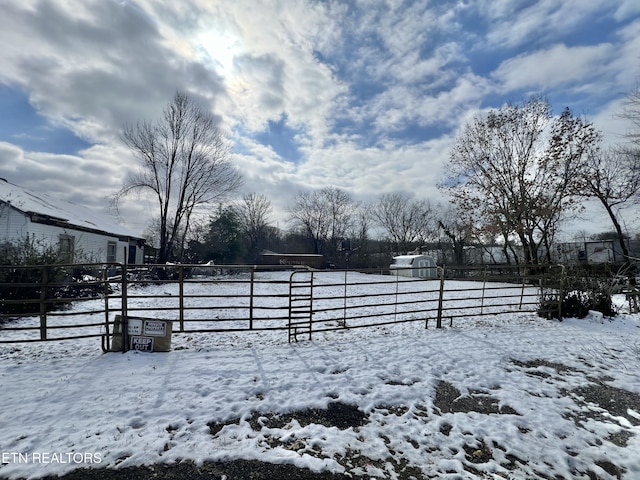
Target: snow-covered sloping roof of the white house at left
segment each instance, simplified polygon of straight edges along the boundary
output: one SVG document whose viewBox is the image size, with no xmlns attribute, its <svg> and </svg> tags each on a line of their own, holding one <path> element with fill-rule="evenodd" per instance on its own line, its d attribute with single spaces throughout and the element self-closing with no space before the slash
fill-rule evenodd
<svg viewBox="0 0 640 480">
<path fill-rule="evenodd" d="M 38 215 L 58 225 L 68 225 L 81 230 L 117 235 L 119 237 L 142 237 L 132 230 L 119 225 L 109 215 L 100 214 L 82 205 L 36 193 L 0 179 L 0 202 L 9 204 L 27 215 Z"/>
</svg>

